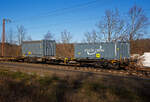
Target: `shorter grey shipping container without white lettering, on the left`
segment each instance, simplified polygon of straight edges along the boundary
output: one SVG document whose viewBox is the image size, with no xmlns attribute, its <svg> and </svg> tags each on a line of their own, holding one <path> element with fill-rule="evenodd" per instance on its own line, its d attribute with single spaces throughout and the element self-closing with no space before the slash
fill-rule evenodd
<svg viewBox="0 0 150 102">
<path fill-rule="evenodd" d="M 23 56 L 50 57 L 56 55 L 54 40 L 25 41 L 22 44 Z"/>
</svg>

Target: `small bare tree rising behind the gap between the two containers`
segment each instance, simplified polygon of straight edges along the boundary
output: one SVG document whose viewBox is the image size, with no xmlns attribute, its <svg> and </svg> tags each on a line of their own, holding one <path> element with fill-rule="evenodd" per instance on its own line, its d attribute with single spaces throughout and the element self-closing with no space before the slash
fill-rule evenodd
<svg viewBox="0 0 150 102">
<path fill-rule="evenodd" d="M 61 32 L 61 42 L 62 43 L 71 43 L 72 35 L 67 30 Z"/>
</svg>

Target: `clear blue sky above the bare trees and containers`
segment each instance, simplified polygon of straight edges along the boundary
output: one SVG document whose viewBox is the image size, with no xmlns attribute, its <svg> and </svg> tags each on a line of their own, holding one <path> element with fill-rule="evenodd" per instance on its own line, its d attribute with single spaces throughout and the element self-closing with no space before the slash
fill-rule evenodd
<svg viewBox="0 0 150 102">
<path fill-rule="evenodd" d="M 80 41 L 85 32 L 96 28 L 106 9 L 118 8 L 125 14 L 136 4 L 146 9 L 150 17 L 150 0 L 97 0 L 82 5 L 91 1 L 96 0 L 0 0 L 0 33 L 2 19 L 10 18 L 13 22 L 6 25 L 6 30 L 16 31 L 17 25 L 24 25 L 33 40 L 43 39 L 48 30 L 59 39 L 60 32 L 67 29 L 74 41 Z"/>
</svg>

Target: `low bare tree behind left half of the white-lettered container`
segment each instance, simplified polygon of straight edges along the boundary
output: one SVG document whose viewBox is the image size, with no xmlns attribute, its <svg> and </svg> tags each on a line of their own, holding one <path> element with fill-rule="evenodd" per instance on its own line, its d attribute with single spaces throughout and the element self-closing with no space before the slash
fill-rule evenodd
<svg viewBox="0 0 150 102">
<path fill-rule="evenodd" d="M 85 43 L 97 43 L 97 42 L 99 42 L 96 31 L 93 30 L 92 32 L 86 32 L 84 34 L 83 42 L 85 42 Z"/>
</svg>

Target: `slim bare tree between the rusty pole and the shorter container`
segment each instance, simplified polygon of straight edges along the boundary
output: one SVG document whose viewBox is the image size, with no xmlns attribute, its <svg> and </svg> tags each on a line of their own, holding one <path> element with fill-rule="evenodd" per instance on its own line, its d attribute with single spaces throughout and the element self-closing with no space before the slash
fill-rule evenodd
<svg viewBox="0 0 150 102">
<path fill-rule="evenodd" d="M 17 26 L 18 44 L 21 45 L 26 37 L 26 29 L 23 25 Z"/>
</svg>

